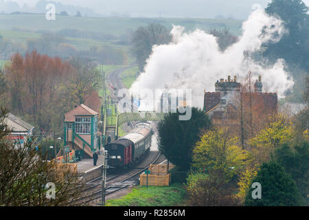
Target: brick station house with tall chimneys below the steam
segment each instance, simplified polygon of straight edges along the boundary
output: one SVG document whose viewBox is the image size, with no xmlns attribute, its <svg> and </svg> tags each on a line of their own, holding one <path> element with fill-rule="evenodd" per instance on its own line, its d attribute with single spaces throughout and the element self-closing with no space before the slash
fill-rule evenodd
<svg viewBox="0 0 309 220">
<path fill-rule="evenodd" d="M 223 78 L 217 80 L 215 84 L 215 92 L 204 91 L 204 107 L 203 110 L 211 121 L 218 126 L 237 126 L 238 119 L 238 100 L 242 97 L 244 102 L 251 98 L 252 107 L 258 108 L 261 113 L 277 112 L 277 94 L 262 93 L 262 78 L 259 77 L 254 84 L 254 92 L 241 91 L 241 85 L 237 82 L 236 76 L 231 80 L 228 76 L 227 80 Z"/>
</svg>

